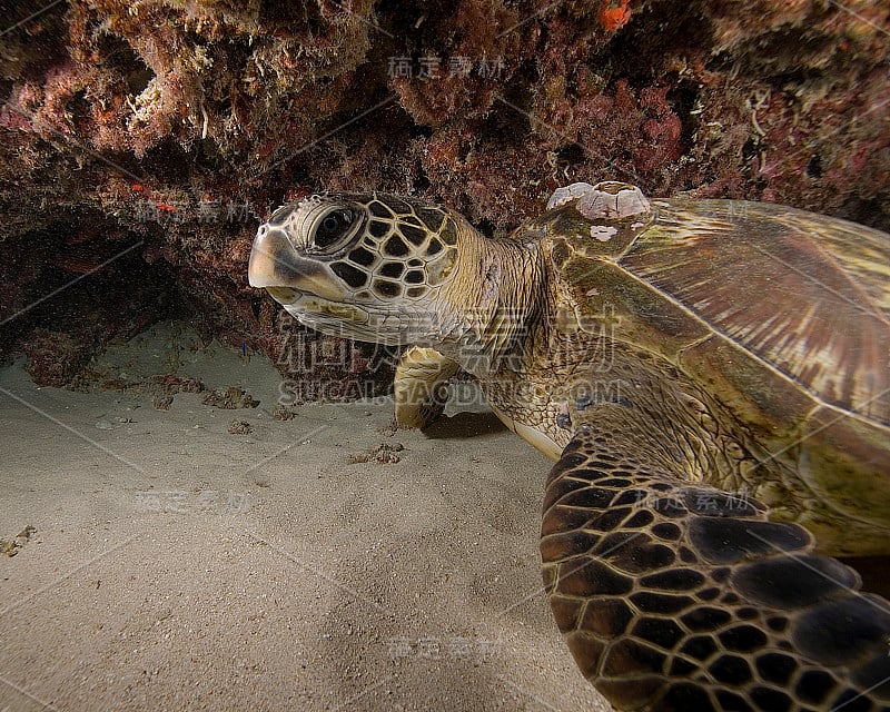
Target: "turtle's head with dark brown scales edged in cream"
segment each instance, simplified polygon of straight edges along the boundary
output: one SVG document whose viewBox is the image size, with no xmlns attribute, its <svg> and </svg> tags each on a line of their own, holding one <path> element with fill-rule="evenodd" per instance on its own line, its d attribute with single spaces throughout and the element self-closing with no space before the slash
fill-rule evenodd
<svg viewBox="0 0 890 712">
<path fill-rule="evenodd" d="M 463 225 L 409 198 L 313 195 L 259 226 L 248 278 L 320 332 L 388 345 L 432 340 Z"/>
</svg>

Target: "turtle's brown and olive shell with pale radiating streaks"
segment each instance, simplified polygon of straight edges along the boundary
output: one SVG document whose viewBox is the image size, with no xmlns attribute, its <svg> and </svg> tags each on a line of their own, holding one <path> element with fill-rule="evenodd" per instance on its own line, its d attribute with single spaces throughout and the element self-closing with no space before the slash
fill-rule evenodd
<svg viewBox="0 0 890 712">
<path fill-rule="evenodd" d="M 540 226 L 576 309 L 611 312 L 829 507 L 890 530 L 890 236 L 762 202 L 578 202 Z"/>
</svg>

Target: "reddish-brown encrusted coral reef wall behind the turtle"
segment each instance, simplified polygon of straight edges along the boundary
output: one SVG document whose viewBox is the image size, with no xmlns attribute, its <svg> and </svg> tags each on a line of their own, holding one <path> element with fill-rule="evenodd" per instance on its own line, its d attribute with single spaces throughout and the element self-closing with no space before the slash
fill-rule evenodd
<svg viewBox="0 0 890 712">
<path fill-rule="evenodd" d="M 444 200 L 490 233 L 605 178 L 890 229 L 889 16 L 868 0 L 17 3 L 0 28 L 0 350 L 68 383 L 176 304 L 268 354 L 293 402 L 377 392 L 392 354 L 285 326 L 245 281 L 257 222 L 318 188 Z"/>
</svg>

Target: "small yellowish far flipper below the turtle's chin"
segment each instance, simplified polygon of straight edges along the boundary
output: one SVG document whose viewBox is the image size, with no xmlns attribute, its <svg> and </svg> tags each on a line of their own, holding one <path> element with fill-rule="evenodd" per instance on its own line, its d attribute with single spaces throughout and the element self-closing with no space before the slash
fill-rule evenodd
<svg viewBox="0 0 890 712">
<path fill-rule="evenodd" d="M 458 365 L 434 348 L 412 346 L 398 359 L 394 382 L 396 423 L 426 427 L 445 409 L 445 383 Z"/>
</svg>

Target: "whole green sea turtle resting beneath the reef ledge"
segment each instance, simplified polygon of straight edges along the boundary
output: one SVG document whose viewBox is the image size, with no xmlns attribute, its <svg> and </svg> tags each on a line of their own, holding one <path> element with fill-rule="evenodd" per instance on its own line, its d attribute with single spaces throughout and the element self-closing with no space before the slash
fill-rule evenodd
<svg viewBox="0 0 890 712">
<path fill-rule="evenodd" d="M 888 710 L 890 236 L 777 205 L 558 189 L 503 239 L 438 205 L 313 195 L 249 280 L 320 332 L 412 345 L 397 418 L 463 367 L 556 461 L 541 554 L 619 710 Z M 817 544 L 818 542 L 818 544 Z"/>
</svg>

